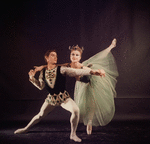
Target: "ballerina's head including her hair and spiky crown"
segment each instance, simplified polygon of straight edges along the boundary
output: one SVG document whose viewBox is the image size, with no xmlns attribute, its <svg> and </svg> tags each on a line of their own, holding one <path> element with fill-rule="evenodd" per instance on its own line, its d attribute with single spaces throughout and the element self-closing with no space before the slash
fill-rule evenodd
<svg viewBox="0 0 150 144">
<path fill-rule="evenodd" d="M 76 46 L 69 46 L 69 49 L 70 49 L 70 60 L 71 62 L 80 62 L 81 60 L 81 56 L 82 56 L 82 53 L 83 53 L 83 47 L 80 48 L 78 45 Z"/>
</svg>

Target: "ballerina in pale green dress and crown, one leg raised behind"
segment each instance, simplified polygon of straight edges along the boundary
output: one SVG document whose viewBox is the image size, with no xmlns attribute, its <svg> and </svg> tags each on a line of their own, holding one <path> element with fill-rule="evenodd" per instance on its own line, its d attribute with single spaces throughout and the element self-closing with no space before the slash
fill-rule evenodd
<svg viewBox="0 0 150 144">
<path fill-rule="evenodd" d="M 87 134 L 92 133 L 92 126 L 105 126 L 115 113 L 114 97 L 118 70 L 111 53 L 116 47 L 116 39 L 103 51 L 80 63 L 83 48 L 78 45 L 69 47 L 71 63 L 64 64 L 75 69 L 100 69 L 101 77 L 94 75 L 76 76 L 74 100 L 80 109 L 80 122 L 86 125 Z M 36 67 L 37 71 L 44 66 Z"/>
</svg>

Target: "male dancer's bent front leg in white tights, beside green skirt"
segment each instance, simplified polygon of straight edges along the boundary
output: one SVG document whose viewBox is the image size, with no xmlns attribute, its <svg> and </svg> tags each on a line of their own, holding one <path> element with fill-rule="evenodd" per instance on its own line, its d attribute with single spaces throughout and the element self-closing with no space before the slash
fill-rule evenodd
<svg viewBox="0 0 150 144">
<path fill-rule="evenodd" d="M 61 107 L 64 109 L 68 110 L 71 112 L 71 118 L 70 118 L 70 123 L 71 123 L 71 134 L 70 134 L 70 139 L 76 141 L 76 142 L 81 142 L 81 139 L 77 137 L 76 135 L 76 130 L 79 122 L 79 108 L 76 105 L 76 103 L 71 99 L 68 98 L 65 103 L 61 104 Z"/>
</svg>

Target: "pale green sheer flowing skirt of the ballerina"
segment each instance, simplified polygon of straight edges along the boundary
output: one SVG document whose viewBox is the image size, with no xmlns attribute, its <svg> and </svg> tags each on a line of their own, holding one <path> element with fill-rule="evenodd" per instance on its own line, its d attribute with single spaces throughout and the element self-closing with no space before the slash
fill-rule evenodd
<svg viewBox="0 0 150 144">
<path fill-rule="evenodd" d="M 115 113 L 116 78 L 118 70 L 111 51 L 107 48 L 83 62 L 91 69 L 103 69 L 105 77 L 89 76 L 90 82 L 76 81 L 74 100 L 80 109 L 80 122 L 93 126 L 105 126 Z"/>
</svg>

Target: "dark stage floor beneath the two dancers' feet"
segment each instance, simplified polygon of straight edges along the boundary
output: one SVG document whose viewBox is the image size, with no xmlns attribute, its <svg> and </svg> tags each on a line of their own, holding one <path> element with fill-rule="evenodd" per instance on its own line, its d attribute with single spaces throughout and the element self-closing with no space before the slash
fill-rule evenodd
<svg viewBox="0 0 150 144">
<path fill-rule="evenodd" d="M 13 132 L 28 121 L 1 122 L 0 144 L 73 144 L 69 139 L 69 121 L 41 121 L 27 134 Z M 92 135 L 86 127 L 78 125 L 77 135 L 82 144 L 150 144 L 149 121 L 112 121 L 107 126 L 93 127 Z"/>
</svg>

